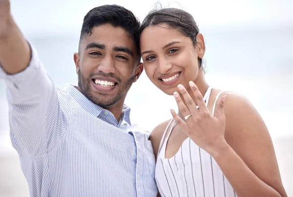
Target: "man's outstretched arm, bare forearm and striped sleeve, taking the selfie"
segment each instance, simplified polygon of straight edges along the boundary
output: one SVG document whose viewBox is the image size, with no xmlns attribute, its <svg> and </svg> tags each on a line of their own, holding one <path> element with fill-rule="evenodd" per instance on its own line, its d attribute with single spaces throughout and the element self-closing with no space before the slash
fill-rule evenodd
<svg viewBox="0 0 293 197">
<path fill-rule="evenodd" d="M 36 51 L 13 20 L 9 0 L 0 0 L 0 65 L 13 144 L 29 155 L 43 154 L 59 140 L 68 115 Z"/>
</svg>

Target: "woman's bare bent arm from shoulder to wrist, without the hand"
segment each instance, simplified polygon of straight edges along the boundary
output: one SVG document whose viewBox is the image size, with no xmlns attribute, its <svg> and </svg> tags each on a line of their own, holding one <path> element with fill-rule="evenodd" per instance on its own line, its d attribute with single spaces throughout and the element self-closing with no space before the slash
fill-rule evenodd
<svg viewBox="0 0 293 197">
<path fill-rule="evenodd" d="M 228 93 L 225 101 L 226 146 L 212 155 L 241 197 L 287 197 L 268 129 L 252 104 Z"/>
</svg>

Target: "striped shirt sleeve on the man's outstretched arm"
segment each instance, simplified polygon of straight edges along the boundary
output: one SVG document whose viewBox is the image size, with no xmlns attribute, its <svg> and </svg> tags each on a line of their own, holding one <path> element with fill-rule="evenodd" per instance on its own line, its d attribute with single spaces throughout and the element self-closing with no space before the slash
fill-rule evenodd
<svg viewBox="0 0 293 197">
<path fill-rule="evenodd" d="M 32 58 L 24 71 L 8 75 L 0 67 L 0 79 L 7 87 L 12 143 L 29 155 L 38 155 L 56 144 L 58 134 L 54 132 L 66 126 L 68 116 L 36 50 L 31 50 Z"/>
</svg>

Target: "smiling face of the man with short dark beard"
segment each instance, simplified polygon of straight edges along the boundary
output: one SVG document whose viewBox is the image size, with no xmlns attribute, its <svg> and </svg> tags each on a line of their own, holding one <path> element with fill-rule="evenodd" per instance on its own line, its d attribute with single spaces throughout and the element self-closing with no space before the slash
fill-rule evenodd
<svg viewBox="0 0 293 197">
<path fill-rule="evenodd" d="M 79 54 L 74 54 L 78 89 L 104 108 L 123 104 L 126 94 L 143 66 L 137 62 L 133 39 L 121 27 L 104 24 L 84 36 Z"/>
</svg>

